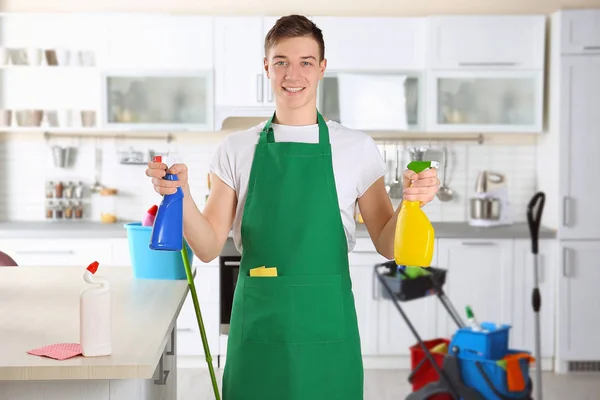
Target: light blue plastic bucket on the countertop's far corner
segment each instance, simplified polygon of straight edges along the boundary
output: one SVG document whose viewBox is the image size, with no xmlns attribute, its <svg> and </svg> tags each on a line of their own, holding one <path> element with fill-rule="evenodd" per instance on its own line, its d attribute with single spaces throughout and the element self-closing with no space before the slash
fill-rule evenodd
<svg viewBox="0 0 600 400">
<path fill-rule="evenodd" d="M 180 251 L 150 249 L 151 226 L 142 226 L 141 222 L 132 222 L 125 224 L 125 229 L 127 229 L 129 256 L 134 278 L 187 279 Z M 185 247 L 191 265 L 194 253 L 187 243 L 185 243 Z"/>
</svg>

